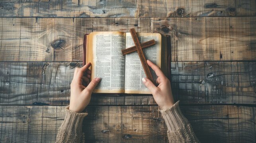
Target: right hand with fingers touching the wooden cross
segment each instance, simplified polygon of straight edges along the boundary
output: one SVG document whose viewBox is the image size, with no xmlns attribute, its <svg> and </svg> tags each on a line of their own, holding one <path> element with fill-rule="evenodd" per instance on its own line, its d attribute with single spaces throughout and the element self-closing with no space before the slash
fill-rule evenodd
<svg viewBox="0 0 256 143">
<path fill-rule="evenodd" d="M 169 108 L 174 104 L 171 83 L 158 66 L 153 64 L 150 60 L 147 60 L 147 64 L 154 70 L 156 76 L 158 76 L 156 79 L 158 86 L 156 87 L 154 83 L 147 78 L 143 78 L 142 81 L 151 91 L 158 106 L 160 106 L 162 110 Z"/>
</svg>

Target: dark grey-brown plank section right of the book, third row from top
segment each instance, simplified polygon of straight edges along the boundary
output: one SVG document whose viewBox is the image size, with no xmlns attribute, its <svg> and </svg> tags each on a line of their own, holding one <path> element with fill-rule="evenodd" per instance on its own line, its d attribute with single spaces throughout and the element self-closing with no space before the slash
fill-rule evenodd
<svg viewBox="0 0 256 143">
<path fill-rule="evenodd" d="M 255 104 L 255 62 L 172 62 L 174 99 L 182 104 Z"/>
</svg>

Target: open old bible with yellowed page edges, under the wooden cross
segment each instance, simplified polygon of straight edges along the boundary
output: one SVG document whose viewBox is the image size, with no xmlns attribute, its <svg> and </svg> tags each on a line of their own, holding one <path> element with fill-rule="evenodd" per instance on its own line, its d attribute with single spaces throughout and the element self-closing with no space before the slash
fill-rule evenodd
<svg viewBox="0 0 256 143">
<path fill-rule="evenodd" d="M 143 48 L 146 59 L 168 73 L 168 37 L 159 33 L 137 33 L 140 43 L 154 39 L 155 45 Z M 134 46 L 131 33 L 92 32 L 84 37 L 84 62 L 91 62 L 91 79 L 100 77 L 94 93 L 151 94 L 142 82 L 146 77 L 137 52 L 123 56 L 121 50 Z M 156 74 L 150 68 L 153 79 Z"/>
</svg>

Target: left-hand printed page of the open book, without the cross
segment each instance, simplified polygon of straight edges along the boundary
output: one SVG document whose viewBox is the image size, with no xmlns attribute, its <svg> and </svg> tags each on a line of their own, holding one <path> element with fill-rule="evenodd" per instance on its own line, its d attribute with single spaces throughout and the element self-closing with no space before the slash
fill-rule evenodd
<svg viewBox="0 0 256 143">
<path fill-rule="evenodd" d="M 92 79 L 102 78 L 94 89 L 95 93 L 123 93 L 125 48 L 123 32 L 93 32 L 92 40 Z"/>
</svg>

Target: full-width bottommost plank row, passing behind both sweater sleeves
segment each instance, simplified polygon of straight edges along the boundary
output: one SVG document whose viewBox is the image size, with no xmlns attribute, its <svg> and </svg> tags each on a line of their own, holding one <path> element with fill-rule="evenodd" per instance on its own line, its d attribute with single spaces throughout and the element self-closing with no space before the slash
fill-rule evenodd
<svg viewBox="0 0 256 143">
<path fill-rule="evenodd" d="M 203 143 L 254 143 L 255 107 L 182 106 Z M 64 106 L 0 106 L 0 142 L 54 142 L 64 120 Z M 86 141 L 109 143 L 167 142 L 158 106 L 89 106 Z"/>
</svg>

